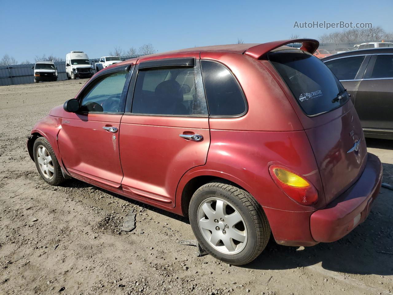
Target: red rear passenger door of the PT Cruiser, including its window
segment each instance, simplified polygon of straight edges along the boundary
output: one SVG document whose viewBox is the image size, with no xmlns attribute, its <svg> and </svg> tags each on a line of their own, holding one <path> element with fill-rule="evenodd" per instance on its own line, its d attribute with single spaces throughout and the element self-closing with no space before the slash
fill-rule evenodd
<svg viewBox="0 0 393 295">
<path fill-rule="evenodd" d="M 210 135 L 198 57 L 136 66 L 120 124 L 123 191 L 157 206 L 175 206 L 185 172 L 204 165 Z"/>
</svg>

